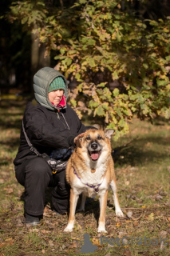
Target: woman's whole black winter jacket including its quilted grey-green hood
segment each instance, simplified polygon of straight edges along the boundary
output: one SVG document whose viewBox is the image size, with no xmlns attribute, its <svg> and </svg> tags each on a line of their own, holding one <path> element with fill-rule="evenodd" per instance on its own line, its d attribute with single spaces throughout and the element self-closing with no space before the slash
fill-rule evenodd
<svg viewBox="0 0 170 256">
<path fill-rule="evenodd" d="M 67 80 L 57 70 L 45 67 L 34 75 L 34 94 L 36 100 L 29 102 L 23 117 L 26 134 L 40 154 L 50 154 L 53 150 L 73 146 L 73 139 L 88 130 L 77 117 L 76 112 L 67 104 L 58 109 L 49 102 L 49 85 L 54 78 L 61 76 L 65 81 L 65 98 L 68 94 Z M 95 128 L 94 128 L 95 129 Z M 21 142 L 14 166 L 28 158 L 37 157 L 30 151 L 25 134 L 21 130 Z"/>
</svg>

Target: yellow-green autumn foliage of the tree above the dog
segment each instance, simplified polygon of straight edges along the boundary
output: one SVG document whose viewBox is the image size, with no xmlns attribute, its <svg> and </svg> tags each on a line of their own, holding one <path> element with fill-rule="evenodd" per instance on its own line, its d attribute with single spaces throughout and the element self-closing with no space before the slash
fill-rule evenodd
<svg viewBox="0 0 170 256">
<path fill-rule="evenodd" d="M 37 34 L 55 68 L 76 79 L 70 103 L 80 118 L 82 110 L 101 118 L 117 138 L 134 114 L 170 118 L 169 17 L 144 20 L 119 0 L 59 7 L 24 0 L 13 2 L 7 16 Z"/>
</svg>

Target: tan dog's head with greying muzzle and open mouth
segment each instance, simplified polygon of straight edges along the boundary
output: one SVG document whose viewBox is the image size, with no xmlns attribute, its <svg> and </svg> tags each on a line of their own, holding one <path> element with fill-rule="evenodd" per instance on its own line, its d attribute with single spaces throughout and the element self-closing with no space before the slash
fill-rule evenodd
<svg viewBox="0 0 170 256">
<path fill-rule="evenodd" d="M 110 138 L 114 130 L 86 130 L 84 136 L 79 139 L 81 149 L 85 151 L 93 162 L 97 162 L 102 151 L 111 151 Z"/>
</svg>

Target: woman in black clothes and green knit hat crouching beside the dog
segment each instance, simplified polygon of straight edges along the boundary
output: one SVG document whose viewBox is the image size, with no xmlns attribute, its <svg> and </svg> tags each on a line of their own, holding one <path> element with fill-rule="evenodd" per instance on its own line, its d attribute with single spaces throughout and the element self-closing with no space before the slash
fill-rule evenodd
<svg viewBox="0 0 170 256">
<path fill-rule="evenodd" d="M 41 154 L 66 161 L 77 136 L 93 128 L 84 126 L 66 104 L 68 83 L 57 70 L 45 67 L 34 75 L 34 95 L 34 101 L 26 106 L 21 142 L 14 159 L 16 178 L 25 186 L 24 210 L 26 223 L 30 225 L 37 225 L 42 218 L 47 186 L 54 187 L 53 209 L 64 214 L 69 208 L 65 167 L 53 174 Z"/>
</svg>

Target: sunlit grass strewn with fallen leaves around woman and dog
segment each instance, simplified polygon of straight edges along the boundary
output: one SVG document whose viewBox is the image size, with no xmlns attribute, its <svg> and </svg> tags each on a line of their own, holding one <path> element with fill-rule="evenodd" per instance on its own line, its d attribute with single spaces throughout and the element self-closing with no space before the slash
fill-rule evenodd
<svg viewBox="0 0 170 256">
<path fill-rule="evenodd" d="M 33 228 L 23 223 L 24 189 L 15 179 L 13 160 L 26 101 L 0 103 L 0 256 L 75 255 L 77 248 L 80 252 L 85 233 L 98 249 L 81 255 L 170 255 L 170 246 L 160 245 L 160 237 L 170 243 L 169 121 L 160 118 L 151 124 L 134 118 L 129 134 L 117 142 L 113 140 L 118 194 L 125 218 L 116 217 L 109 191 L 107 234 L 97 234 L 97 197 L 87 203 L 85 214 L 76 214 L 73 233 L 65 234 L 68 218 L 53 214 L 49 197 L 41 225 Z M 113 244 L 113 238 L 125 236 L 128 238 L 124 242 L 129 240 L 129 245 Z M 101 245 L 104 237 L 108 240 Z M 147 239 L 150 245 L 146 245 Z"/>
</svg>

